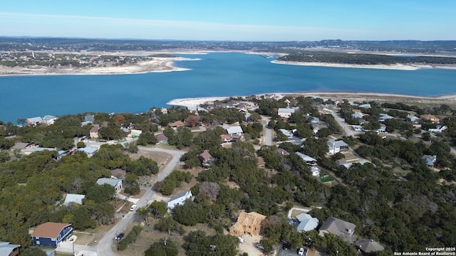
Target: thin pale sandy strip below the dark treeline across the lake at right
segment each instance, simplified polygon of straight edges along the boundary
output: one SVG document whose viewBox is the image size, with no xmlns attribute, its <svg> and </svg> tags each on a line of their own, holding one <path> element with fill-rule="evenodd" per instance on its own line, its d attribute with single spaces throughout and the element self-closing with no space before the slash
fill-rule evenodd
<svg viewBox="0 0 456 256">
<path fill-rule="evenodd" d="M 455 65 L 356 65 L 356 64 L 339 64 L 339 63 L 306 63 L 297 61 L 282 61 L 272 60 L 271 63 L 284 64 L 284 65 L 304 65 L 316 67 L 331 67 L 331 68 L 373 68 L 373 69 L 389 69 L 389 70 L 419 70 L 422 68 L 443 68 L 443 69 L 456 69 Z"/>
</svg>

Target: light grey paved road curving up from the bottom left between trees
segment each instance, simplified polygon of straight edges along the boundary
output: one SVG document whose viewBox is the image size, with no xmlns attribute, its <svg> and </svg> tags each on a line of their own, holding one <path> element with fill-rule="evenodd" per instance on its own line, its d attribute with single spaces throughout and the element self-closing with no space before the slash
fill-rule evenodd
<svg viewBox="0 0 456 256">
<path fill-rule="evenodd" d="M 165 152 L 167 154 L 171 154 L 172 159 L 152 181 L 152 185 L 150 186 L 150 189 L 147 189 L 144 196 L 142 196 L 142 198 L 140 198 L 140 200 L 136 204 L 138 206 L 138 208 L 147 205 L 147 202 L 150 200 L 150 198 L 152 198 L 152 196 L 155 193 L 155 191 L 152 190 L 152 186 L 155 184 L 155 182 L 162 181 L 163 179 L 165 179 L 165 177 L 175 169 L 177 164 L 179 164 L 180 157 L 182 156 L 182 154 L 185 153 L 185 151 L 160 149 L 160 148 L 147 148 L 144 146 L 139 146 L 139 149 L 144 150 L 144 151 Z M 126 214 L 125 217 L 123 217 L 117 224 L 115 224 L 115 226 L 113 228 L 111 228 L 111 230 L 109 230 L 107 233 L 105 233 L 105 235 L 100 240 L 100 242 L 98 242 L 98 245 L 97 245 L 98 256 L 115 255 L 115 252 L 111 248 L 111 245 L 115 241 L 114 240 L 115 235 L 120 232 L 123 232 L 123 230 L 125 230 L 125 228 L 127 228 L 128 225 L 130 225 L 130 223 L 134 219 L 134 215 L 135 215 L 135 211 Z"/>
</svg>

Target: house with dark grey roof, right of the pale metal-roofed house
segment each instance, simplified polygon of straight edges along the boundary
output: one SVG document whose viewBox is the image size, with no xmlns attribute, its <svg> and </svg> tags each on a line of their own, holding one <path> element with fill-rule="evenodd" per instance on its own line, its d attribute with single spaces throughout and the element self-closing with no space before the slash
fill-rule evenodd
<svg viewBox="0 0 456 256">
<path fill-rule="evenodd" d="M 351 244 L 353 242 L 353 233 L 355 233 L 355 228 L 356 225 L 353 223 L 334 217 L 328 217 L 323 225 L 321 225 L 318 233 L 320 235 L 331 233 Z"/>
</svg>

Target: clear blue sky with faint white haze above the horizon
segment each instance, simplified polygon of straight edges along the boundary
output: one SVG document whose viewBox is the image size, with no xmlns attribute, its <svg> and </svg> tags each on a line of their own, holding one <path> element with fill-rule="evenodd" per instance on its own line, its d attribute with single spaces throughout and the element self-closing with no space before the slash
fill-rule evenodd
<svg viewBox="0 0 456 256">
<path fill-rule="evenodd" d="M 456 40 L 455 0 L 4 1 L 0 36 Z"/>
</svg>

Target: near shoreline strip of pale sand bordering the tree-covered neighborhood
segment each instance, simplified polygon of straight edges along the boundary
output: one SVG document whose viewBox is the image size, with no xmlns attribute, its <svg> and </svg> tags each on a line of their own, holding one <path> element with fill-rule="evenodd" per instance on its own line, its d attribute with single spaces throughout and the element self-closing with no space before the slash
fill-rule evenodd
<svg viewBox="0 0 456 256">
<path fill-rule="evenodd" d="M 266 95 L 266 94 L 275 94 L 275 95 L 283 95 L 283 96 L 327 96 L 327 97 L 334 97 L 334 98 L 340 98 L 344 100 L 349 100 L 349 99 L 358 99 L 358 100 L 368 100 L 368 99 L 374 99 L 374 98 L 381 98 L 381 97 L 388 97 L 391 98 L 391 101 L 394 101 L 393 99 L 403 99 L 403 98 L 408 98 L 410 100 L 421 100 L 423 102 L 432 102 L 432 101 L 441 101 L 441 100 L 446 100 L 450 102 L 455 102 L 456 103 L 456 94 L 450 94 L 450 95 L 437 95 L 437 96 L 430 96 L 430 97 L 425 97 L 425 96 L 415 96 L 415 95 L 401 95 L 401 94 L 394 94 L 394 93 L 383 93 L 383 92 L 271 92 L 271 93 L 261 93 L 255 96 L 261 96 L 261 95 Z M 197 107 L 199 105 L 204 105 L 204 104 L 211 104 L 215 101 L 220 101 L 220 100 L 227 100 L 230 97 L 250 97 L 250 96 L 218 96 L 218 97 L 195 97 L 195 98 L 179 98 L 179 99 L 173 99 L 167 102 L 167 105 L 171 106 L 179 106 L 179 107 Z"/>
</svg>

